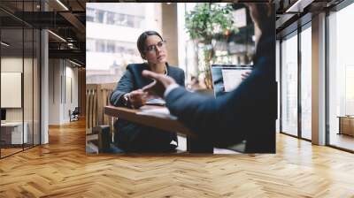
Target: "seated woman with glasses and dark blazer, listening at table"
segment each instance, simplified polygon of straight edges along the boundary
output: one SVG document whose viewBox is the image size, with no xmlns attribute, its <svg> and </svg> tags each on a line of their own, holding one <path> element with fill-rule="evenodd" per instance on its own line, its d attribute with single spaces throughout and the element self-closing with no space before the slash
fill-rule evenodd
<svg viewBox="0 0 354 198">
<path fill-rule="evenodd" d="M 142 33 L 137 47 L 146 63 L 127 65 L 127 72 L 119 80 L 111 95 L 114 106 L 139 108 L 145 103 L 144 86 L 152 80 L 142 77 L 142 71 L 148 70 L 173 78 L 184 87 L 184 72 L 180 68 L 167 64 L 165 40 L 155 31 Z M 153 127 L 142 126 L 119 119 L 114 124 L 114 141 L 127 152 L 173 152 L 177 147 L 176 133 L 165 132 Z"/>
</svg>

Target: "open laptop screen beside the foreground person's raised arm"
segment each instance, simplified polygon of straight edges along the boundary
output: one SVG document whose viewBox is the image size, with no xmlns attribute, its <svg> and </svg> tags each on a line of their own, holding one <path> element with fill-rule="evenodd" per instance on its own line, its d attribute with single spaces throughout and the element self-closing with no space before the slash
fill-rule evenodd
<svg viewBox="0 0 354 198">
<path fill-rule="evenodd" d="M 212 65 L 215 97 L 237 88 L 242 82 L 242 73 L 251 72 L 251 70 L 251 65 Z"/>
</svg>

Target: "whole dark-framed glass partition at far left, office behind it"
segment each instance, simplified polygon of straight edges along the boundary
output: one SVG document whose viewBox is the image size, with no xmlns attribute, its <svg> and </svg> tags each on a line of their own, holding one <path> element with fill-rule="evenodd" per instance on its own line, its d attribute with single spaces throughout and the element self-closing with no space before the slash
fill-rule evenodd
<svg viewBox="0 0 354 198">
<path fill-rule="evenodd" d="M 40 31 L 15 17 L 40 1 L 2 1 L 0 11 L 0 157 L 40 143 Z"/>
</svg>

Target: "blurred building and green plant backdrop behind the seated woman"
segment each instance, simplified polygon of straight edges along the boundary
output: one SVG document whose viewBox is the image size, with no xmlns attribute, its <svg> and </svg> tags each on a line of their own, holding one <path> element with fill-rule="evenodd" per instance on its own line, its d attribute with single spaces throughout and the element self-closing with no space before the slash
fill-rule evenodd
<svg viewBox="0 0 354 198">
<path fill-rule="evenodd" d="M 188 85 L 193 78 L 210 88 L 210 64 L 252 63 L 254 30 L 243 4 L 91 3 L 86 19 L 87 84 L 116 83 L 128 64 L 142 63 L 136 41 L 146 30 L 162 34 L 168 63 L 186 72 Z"/>
</svg>

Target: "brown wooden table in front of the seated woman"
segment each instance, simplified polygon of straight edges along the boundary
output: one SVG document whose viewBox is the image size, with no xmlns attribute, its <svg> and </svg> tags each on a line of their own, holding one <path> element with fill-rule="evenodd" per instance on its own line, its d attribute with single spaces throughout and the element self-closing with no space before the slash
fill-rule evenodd
<svg viewBox="0 0 354 198">
<path fill-rule="evenodd" d="M 160 109 L 166 110 L 165 107 L 159 106 L 143 106 L 144 110 Z M 162 129 L 169 132 L 184 133 L 187 135 L 187 150 L 190 153 L 212 153 L 213 147 L 211 144 L 197 139 L 195 133 L 189 130 L 176 118 L 169 117 L 168 115 L 164 117 L 158 117 L 154 115 L 142 115 L 144 110 L 132 110 L 125 107 L 114 107 L 105 106 L 104 114 L 112 117 L 123 118 L 137 124 L 142 124 L 144 126 L 153 126 L 158 129 Z"/>
</svg>

